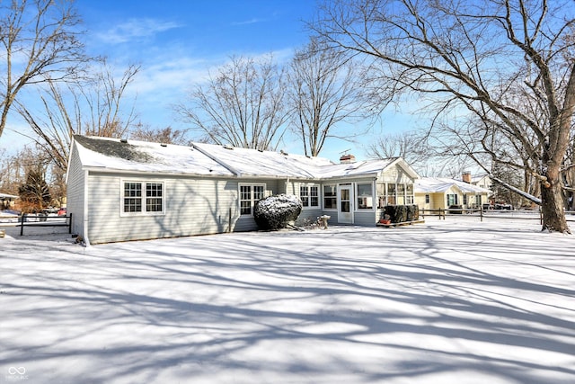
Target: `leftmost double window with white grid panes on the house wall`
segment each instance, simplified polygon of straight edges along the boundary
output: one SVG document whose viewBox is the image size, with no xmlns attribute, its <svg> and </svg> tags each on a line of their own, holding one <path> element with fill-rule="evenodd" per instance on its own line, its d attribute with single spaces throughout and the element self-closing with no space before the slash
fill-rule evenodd
<svg viewBox="0 0 575 384">
<path fill-rule="evenodd" d="M 123 214 L 164 214 L 164 183 L 124 182 Z"/>
</svg>

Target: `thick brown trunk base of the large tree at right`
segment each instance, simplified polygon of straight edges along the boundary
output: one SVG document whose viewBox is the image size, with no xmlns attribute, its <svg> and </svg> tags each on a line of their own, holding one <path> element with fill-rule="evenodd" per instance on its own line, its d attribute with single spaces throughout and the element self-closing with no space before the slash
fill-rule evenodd
<svg viewBox="0 0 575 384">
<path fill-rule="evenodd" d="M 541 210 L 543 230 L 570 233 L 565 219 L 565 204 L 558 166 L 547 169 L 547 181 L 541 184 Z"/>
</svg>

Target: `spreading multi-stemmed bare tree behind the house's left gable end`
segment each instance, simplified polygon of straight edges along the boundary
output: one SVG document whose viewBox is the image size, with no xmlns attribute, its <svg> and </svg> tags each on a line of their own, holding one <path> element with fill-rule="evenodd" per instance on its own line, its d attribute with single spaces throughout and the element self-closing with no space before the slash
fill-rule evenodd
<svg viewBox="0 0 575 384">
<path fill-rule="evenodd" d="M 41 112 L 17 104 L 17 111 L 34 133 L 29 138 L 61 170 L 66 170 L 73 135 L 121 137 L 134 125 L 134 107 L 126 107 L 125 99 L 140 67 L 129 65 L 118 76 L 105 60 L 100 64 L 93 67 L 90 77 L 66 85 L 48 79 L 48 87 L 40 93 Z"/>
</svg>

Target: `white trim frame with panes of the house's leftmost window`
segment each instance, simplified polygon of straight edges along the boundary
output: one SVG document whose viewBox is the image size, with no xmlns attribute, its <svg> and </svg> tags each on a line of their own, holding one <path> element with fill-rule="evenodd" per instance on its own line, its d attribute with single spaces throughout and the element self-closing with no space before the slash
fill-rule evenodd
<svg viewBox="0 0 575 384">
<path fill-rule="evenodd" d="M 165 183 L 163 181 L 119 181 L 119 216 L 165 215 Z"/>
</svg>

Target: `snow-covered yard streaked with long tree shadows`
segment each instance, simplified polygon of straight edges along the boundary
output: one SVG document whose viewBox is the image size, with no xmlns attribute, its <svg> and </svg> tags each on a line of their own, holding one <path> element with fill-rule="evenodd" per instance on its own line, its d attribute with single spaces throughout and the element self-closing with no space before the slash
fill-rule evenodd
<svg viewBox="0 0 575 384">
<path fill-rule="evenodd" d="M 88 248 L 8 230 L 0 382 L 575 382 L 575 237 L 426 220 Z"/>
</svg>

